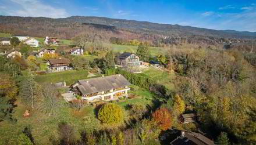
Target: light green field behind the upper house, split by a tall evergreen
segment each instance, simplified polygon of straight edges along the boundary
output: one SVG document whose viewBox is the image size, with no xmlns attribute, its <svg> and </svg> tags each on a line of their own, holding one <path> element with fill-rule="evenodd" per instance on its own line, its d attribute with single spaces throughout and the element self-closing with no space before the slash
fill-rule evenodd
<svg viewBox="0 0 256 145">
<path fill-rule="evenodd" d="M 136 53 L 138 46 L 131 46 L 131 45 L 116 45 L 112 44 L 112 50 L 114 52 L 133 52 Z M 165 49 L 164 48 L 159 48 L 159 47 L 149 47 L 150 53 L 152 56 L 158 56 L 158 55 L 163 55 L 165 54 Z"/>
</svg>

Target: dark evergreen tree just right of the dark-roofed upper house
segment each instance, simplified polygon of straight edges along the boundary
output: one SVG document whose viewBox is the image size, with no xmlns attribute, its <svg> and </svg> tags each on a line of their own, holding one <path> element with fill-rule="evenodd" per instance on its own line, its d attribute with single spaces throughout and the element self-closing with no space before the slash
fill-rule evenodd
<svg viewBox="0 0 256 145">
<path fill-rule="evenodd" d="M 136 55 L 140 57 L 141 61 L 149 61 L 150 60 L 150 50 L 147 45 L 140 44 L 138 45 Z"/>
</svg>

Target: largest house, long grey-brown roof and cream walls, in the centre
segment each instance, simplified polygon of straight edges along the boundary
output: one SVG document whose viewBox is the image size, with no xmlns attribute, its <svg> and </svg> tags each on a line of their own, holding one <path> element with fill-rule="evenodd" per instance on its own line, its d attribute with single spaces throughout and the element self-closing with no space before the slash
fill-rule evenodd
<svg viewBox="0 0 256 145">
<path fill-rule="evenodd" d="M 127 97 L 129 81 L 123 75 L 116 74 L 98 78 L 82 79 L 71 85 L 71 90 L 80 95 L 83 100 L 94 102 L 97 100 L 115 100 L 121 96 Z"/>
</svg>

